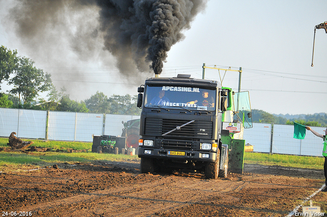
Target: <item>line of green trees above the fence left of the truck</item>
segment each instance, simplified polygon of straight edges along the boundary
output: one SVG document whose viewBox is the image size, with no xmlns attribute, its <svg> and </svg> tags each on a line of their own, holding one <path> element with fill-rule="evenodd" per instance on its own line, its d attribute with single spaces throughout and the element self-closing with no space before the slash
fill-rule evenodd
<svg viewBox="0 0 327 217">
<path fill-rule="evenodd" d="M 137 95 L 113 94 L 111 97 L 107 97 L 103 92 L 97 92 L 85 101 L 71 100 L 65 93 L 66 89 L 63 87 L 58 91 L 52 83 L 51 75 L 36 68 L 34 63 L 27 57 L 19 57 L 16 50 L 11 51 L 3 45 L 0 47 L 0 90 L 4 81 L 13 85 L 8 93 L 0 92 L 0 107 L 141 114 L 141 110 L 136 107 Z M 46 95 L 48 99 L 38 98 L 42 92 L 48 92 Z"/>
</svg>

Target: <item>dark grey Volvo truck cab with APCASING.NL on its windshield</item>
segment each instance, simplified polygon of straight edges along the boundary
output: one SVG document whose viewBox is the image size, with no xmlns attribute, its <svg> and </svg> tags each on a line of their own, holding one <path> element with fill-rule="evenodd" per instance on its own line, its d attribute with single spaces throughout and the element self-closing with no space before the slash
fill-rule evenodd
<svg viewBox="0 0 327 217">
<path fill-rule="evenodd" d="M 228 147 L 221 142 L 227 108 L 217 81 L 148 78 L 138 92 L 141 173 L 188 169 L 206 178 L 227 176 Z"/>
</svg>

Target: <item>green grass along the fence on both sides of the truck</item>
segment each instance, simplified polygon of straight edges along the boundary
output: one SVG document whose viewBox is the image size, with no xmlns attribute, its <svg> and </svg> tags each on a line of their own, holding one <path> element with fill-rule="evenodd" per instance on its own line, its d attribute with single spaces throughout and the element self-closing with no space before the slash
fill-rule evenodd
<svg viewBox="0 0 327 217">
<path fill-rule="evenodd" d="M 29 139 L 23 139 L 30 141 Z M 45 147 L 52 149 L 75 149 L 87 150 L 80 153 L 62 153 L 62 152 L 0 152 L 0 171 L 17 170 L 24 167 L 50 166 L 55 163 L 76 163 L 76 162 L 94 162 L 94 161 L 124 161 L 139 159 L 137 156 L 98 154 L 91 153 L 91 142 L 68 142 L 68 141 L 43 141 L 32 140 L 32 146 Z M 8 138 L 0 138 L 0 147 L 7 146 Z M 280 154 L 263 154 L 245 152 L 245 163 L 258 163 L 263 165 L 281 165 L 300 168 L 322 169 L 324 159 L 322 157 L 308 157 Z"/>
</svg>

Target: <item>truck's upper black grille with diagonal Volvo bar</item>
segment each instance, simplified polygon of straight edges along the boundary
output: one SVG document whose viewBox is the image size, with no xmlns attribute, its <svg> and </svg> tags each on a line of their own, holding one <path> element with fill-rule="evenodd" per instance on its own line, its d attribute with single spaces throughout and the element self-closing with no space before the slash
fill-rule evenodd
<svg viewBox="0 0 327 217">
<path fill-rule="evenodd" d="M 180 137 L 189 139 L 205 138 L 211 139 L 213 134 L 213 123 L 195 120 L 194 122 L 185 125 L 180 130 L 174 130 L 171 133 L 165 134 L 178 126 L 184 125 L 190 120 L 176 120 L 176 119 L 160 119 L 160 118 L 146 118 L 145 119 L 145 135 L 166 137 Z"/>
</svg>

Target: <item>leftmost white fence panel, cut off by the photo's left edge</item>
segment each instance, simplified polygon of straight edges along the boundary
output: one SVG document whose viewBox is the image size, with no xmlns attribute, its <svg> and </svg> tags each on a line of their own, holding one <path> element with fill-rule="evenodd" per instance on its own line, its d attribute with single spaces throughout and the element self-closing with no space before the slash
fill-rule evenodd
<svg viewBox="0 0 327 217">
<path fill-rule="evenodd" d="M 19 109 L 0 108 L 0 136 L 9 137 L 10 133 L 18 133 Z"/>
</svg>

